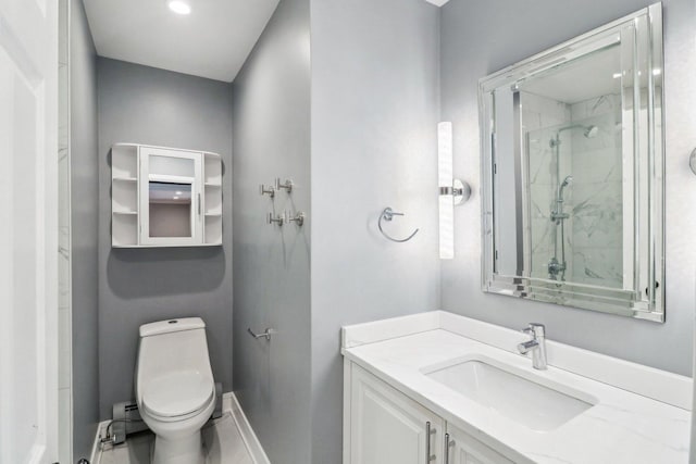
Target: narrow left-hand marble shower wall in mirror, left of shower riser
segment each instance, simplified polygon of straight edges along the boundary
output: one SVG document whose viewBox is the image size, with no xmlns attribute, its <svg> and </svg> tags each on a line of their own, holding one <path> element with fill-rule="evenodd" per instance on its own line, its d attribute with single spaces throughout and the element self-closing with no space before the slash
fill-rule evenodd
<svg viewBox="0 0 696 464">
<path fill-rule="evenodd" d="M 556 198 L 556 154 L 550 146 L 556 127 L 564 126 L 572 120 L 568 104 L 529 92 L 520 92 L 522 105 L 522 134 L 527 140 L 527 166 L 530 179 L 530 240 L 525 243 L 525 267 L 538 278 L 548 277 L 548 262 L 554 256 L 554 234 L 556 226 L 550 214 Z M 561 172 L 570 168 L 569 153 L 560 152 Z M 572 228 L 569 227 L 567 239 Z"/>
</svg>

